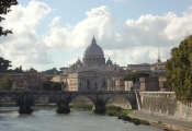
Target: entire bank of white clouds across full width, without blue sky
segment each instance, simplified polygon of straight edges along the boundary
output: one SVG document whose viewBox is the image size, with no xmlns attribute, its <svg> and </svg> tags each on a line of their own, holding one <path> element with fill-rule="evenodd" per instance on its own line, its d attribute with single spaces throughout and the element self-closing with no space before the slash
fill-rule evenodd
<svg viewBox="0 0 192 131">
<path fill-rule="evenodd" d="M 86 19 L 74 26 L 70 23 L 58 25 L 63 17 L 55 16 L 43 34 L 44 37 L 41 37 L 36 27 L 50 11 L 46 3 L 38 1 L 31 1 L 26 7 L 13 7 L 12 12 L 5 15 L 2 26 L 13 28 L 14 34 L 0 37 L 0 55 L 13 61 L 13 64 L 38 64 L 39 70 L 45 70 L 45 64 L 57 64 L 53 62 L 58 61 L 53 60 L 57 58 L 48 57 L 49 50 L 86 49 L 94 35 L 106 59 L 110 57 L 120 66 L 151 63 L 158 57 L 159 47 L 161 58 L 166 60 L 170 57 L 170 49 L 178 46 L 192 31 L 191 8 L 181 16 L 167 12 L 163 15 L 145 14 L 137 20 L 127 19 L 124 27 L 116 32 L 116 16 L 106 5 L 102 5 L 87 11 Z M 64 64 L 72 64 L 79 56 L 64 57 Z"/>
</svg>

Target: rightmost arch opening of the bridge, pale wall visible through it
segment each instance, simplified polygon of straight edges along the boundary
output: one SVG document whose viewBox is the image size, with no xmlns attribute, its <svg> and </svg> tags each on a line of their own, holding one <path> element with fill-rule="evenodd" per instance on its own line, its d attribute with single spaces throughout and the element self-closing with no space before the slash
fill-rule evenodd
<svg viewBox="0 0 192 131">
<path fill-rule="evenodd" d="M 132 105 L 129 100 L 127 100 L 125 97 L 120 96 L 120 95 L 114 95 L 110 97 L 106 100 L 105 106 L 116 106 L 116 107 L 121 107 L 124 109 L 132 109 Z"/>
</svg>

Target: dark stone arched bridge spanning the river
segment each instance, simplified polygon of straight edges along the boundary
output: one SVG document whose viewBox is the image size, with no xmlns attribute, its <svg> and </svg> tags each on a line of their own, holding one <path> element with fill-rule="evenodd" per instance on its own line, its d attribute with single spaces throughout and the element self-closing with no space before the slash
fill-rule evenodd
<svg viewBox="0 0 192 131">
<path fill-rule="evenodd" d="M 114 96 L 120 96 L 126 99 L 131 108 L 137 108 L 136 94 L 135 92 L 121 92 L 121 91 L 98 91 L 98 92 L 66 92 L 66 91 L 11 91 L 0 92 L 0 99 L 10 97 L 15 105 L 20 107 L 20 114 L 31 114 L 31 107 L 38 103 L 39 97 L 48 97 L 52 102 L 57 104 L 58 114 L 70 112 L 69 103 L 79 96 L 89 98 L 94 105 L 95 112 L 104 112 L 105 105 Z"/>
</svg>

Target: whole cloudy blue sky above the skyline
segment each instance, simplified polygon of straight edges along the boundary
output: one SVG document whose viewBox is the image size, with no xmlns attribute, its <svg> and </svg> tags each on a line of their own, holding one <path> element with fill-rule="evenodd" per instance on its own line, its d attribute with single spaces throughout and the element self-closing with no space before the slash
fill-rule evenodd
<svg viewBox="0 0 192 131">
<path fill-rule="evenodd" d="M 192 34 L 192 0 L 18 0 L 0 23 L 0 57 L 37 71 L 82 59 L 94 35 L 106 60 L 121 67 L 166 61 Z"/>
</svg>

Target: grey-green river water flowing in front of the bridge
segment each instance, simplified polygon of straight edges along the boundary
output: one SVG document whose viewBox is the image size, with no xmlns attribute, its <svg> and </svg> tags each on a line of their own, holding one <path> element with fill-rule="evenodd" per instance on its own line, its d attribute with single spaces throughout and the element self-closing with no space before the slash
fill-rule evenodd
<svg viewBox="0 0 192 131">
<path fill-rule="evenodd" d="M 19 115 L 14 107 L 0 108 L 0 131 L 162 131 L 151 126 L 135 126 L 116 117 L 71 109 L 57 115 L 54 108 L 39 108 L 32 115 Z"/>
</svg>

